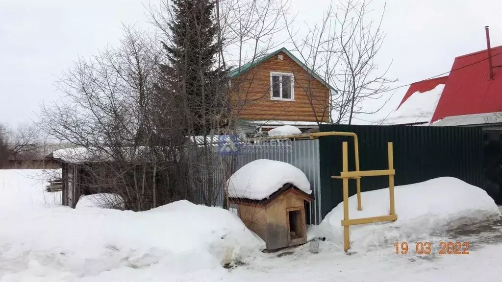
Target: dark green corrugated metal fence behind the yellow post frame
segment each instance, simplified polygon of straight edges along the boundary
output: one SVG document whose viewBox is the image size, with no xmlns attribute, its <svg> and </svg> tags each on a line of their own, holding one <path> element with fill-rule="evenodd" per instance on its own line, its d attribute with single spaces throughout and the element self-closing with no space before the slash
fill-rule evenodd
<svg viewBox="0 0 502 282">
<path fill-rule="evenodd" d="M 451 176 L 483 186 L 479 127 L 321 125 L 320 131 L 355 132 L 361 170 L 387 169 L 387 142 L 393 142 L 395 185 Z M 328 136 L 319 140 L 322 217 L 342 201 L 341 180 L 330 178 L 339 176 L 342 170 L 342 141 L 348 142 L 349 170 L 355 170 L 352 138 Z M 361 191 L 386 188 L 388 182 L 387 177 L 361 178 Z M 355 181 L 349 181 L 349 185 L 349 195 L 355 194 Z"/>
</svg>

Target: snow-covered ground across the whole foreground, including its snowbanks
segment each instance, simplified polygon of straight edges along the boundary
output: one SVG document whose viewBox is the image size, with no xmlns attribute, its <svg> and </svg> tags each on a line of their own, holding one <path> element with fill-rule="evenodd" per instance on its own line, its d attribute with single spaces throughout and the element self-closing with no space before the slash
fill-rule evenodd
<svg viewBox="0 0 502 282">
<path fill-rule="evenodd" d="M 320 242 L 318 254 L 310 253 L 308 244 L 263 253 L 260 249 L 264 242 L 245 228 L 234 214 L 220 208 L 186 201 L 146 212 L 70 209 L 54 205 L 47 208 L 51 205 L 39 201 L 45 199 L 43 184 L 33 185 L 39 180 L 25 172 L 0 171 L 4 177 L 0 179 L 2 204 L 14 201 L 7 199 L 15 196 L 15 193 L 5 192 L 10 191 L 9 186 L 24 187 L 16 190 L 25 200 L 16 199 L 26 208 L 0 210 L 1 282 L 502 281 L 502 220 L 496 216 L 486 219 L 493 213 L 492 203 L 482 191 L 459 182 L 455 184 L 456 196 L 440 190 L 426 191 L 424 187 L 431 185 L 423 183 L 396 187 L 396 212 L 401 221 L 416 219 L 412 211 L 419 203 L 412 208 L 398 204 L 400 200 L 422 201 L 422 211 L 438 209 L 437 213 L 428 215 L 440 219 L 445 218 L 445 212 L 454 212 L 453 206 L 463 206 L 463 209 L 457 208 L 463 211 L 463 219 L 459 222 L 470 222 L 453 230 L 437 229 L 421 232 L 413 239 L 400 238 L 409 239 L 406 254 L 396 254 L 392 240 L 372 248 L 354 246 L 347 254 L 340 251 L 339 242 L 330 240 Z M 21 178 L 23 175 L 25 179 Z M 443 181 L 454 182 L 452 179 Z M 415 194 L 428 196 L 402 198 L 400 190 L 416 190 Z M 363 195 L 373 196 L 362 198 L 366 213 L 386 211 L 386 208 L 377 208 L 376 204 L 372 208 L 372 202 L 384 201 L 378 199 L 379 196 Z M 449 198 L 444 198 L 446 195 Z M 436 206 L 435 198 L 442 198 L 445 207 Z M 478 207 L 483 207 L 484 219 L 479 217 Z M 469 213 L 469 209 L 473 212 Z M 450 221 L 456 221 L 451 215 Z M 352 212 L 351 218 L 355 216 L 357 214 Z M 471 216 L 478 222 L 464 220 Z M 405 226 L 404 222 L 395 224 L 398 223 Z M 385 226 L 380 230 L 385 230 Z M 357 233 L 353 226 L 351 231 L 354 235 Z M 308 233 L 313 237 L 316 226 L 309 226 Z M 415 243 L 418 241 L 431 242 L 431 254 L 417 254 Z M 469 242 L 469 254 L 440 255 L 440 241 Z M 228 262 L 232 264 L 225 268 Z"/>
</svg>

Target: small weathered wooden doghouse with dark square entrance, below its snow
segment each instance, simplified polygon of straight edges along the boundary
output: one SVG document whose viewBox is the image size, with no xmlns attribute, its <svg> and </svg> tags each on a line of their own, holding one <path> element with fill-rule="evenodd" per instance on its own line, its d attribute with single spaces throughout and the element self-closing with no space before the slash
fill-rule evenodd
<svg viewBox="0 0 502 282">
<path fill-rule="evenodd" d="M 230 198 L 242 222 L 260 236 L 268 250 L 307 242 L 305 202 L 312 196 L 287 183 L 263 200 Z"/>
</svg>

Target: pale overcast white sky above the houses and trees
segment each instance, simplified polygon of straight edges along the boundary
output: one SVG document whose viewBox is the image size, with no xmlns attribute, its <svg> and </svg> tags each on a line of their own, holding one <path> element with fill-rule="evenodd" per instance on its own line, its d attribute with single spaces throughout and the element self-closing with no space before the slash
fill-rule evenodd
<svg viewBox="0 0 502 282">
<path fill-rule="evenodd" d="M 152 0 L 155 4 L 158 0 Z M 114 46 L 123 24 L 148 29 L 141 0 L 1 0 L 0 123 L 15 126 L 37 118 L 40 105 L 58 98 L 53 82 L 79 56 Z M 333 2 L 334 4 L 336 2 Z M 376 0 L 375 9 L 384 1 Z M 327 0 L 293 0 L 296 27 L 314 24 Z M 404 85 L 449 71 L 456 56 L 502 45 L 500 0 L 391 0 L 383 29 L 387 37 L 378 62 L 393 61 L 389 77 Z M 371 120 L 394 109 L 407 87 L 397 91 Z M 363 121 L 359 121 L 363 122 Z"/>
</svg>

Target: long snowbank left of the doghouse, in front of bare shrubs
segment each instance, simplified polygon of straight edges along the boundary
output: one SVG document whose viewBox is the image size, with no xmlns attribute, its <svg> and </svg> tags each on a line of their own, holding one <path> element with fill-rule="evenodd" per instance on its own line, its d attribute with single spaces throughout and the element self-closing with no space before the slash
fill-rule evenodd
<svg viewBox="0 0 502 282">
<path fill-rule="evenodd" d="M 152 269 L 183 277 L 187 271 L 245 261 L 265 248 L 234 214 L 188 201 L 145 212 L 41 209 L 0 217 L 0 226 L 8 226 L 0 229 L 0 277 L 8 274 L 9 281 L 94 280 Z M 122 276 L 118 280 L 129 274 Z"/>
</svg>

